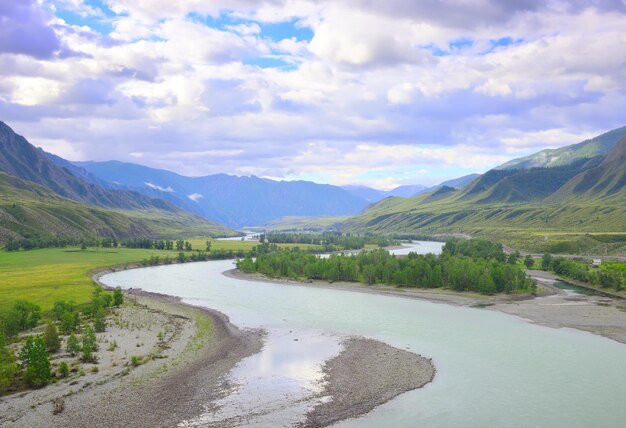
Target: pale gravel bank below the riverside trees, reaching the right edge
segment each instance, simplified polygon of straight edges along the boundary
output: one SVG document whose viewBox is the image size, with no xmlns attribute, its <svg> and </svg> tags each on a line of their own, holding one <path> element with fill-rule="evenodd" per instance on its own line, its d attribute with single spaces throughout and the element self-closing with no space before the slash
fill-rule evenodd
<svg viewBox="0 0 626 428">
<path fill-rule="evenodd" d="M 558 277 L 541 272 L 535 278 L 540 290 L 535 295 L 485 296 L 471 292 L 454 292 L 441 289 L 398 288 L 390 286 L 327 281 L 300 282 L 273 279 L 262 275 L 245 274 L 238 269 L 224 272 L 231 278 L 304 287 L 328 288 L 359 293 L 389 295 L 408 299 L 427 300 L 455 306 L 473 306 L 519 316 L 526 321 L 552 328 L 573 328 L 626 343 L 626 303 L 623 299 L 606 296 L 573 295 L 554 285 Z"/>
</svg>

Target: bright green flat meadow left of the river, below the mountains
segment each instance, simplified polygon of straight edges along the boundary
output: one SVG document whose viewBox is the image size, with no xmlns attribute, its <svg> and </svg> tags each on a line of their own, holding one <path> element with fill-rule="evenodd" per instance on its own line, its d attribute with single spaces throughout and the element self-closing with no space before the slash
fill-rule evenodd
<svg viewBox="0 0 626 428">
<path fill-rule="evenodd" d="M 205 249 L 206 238 L 190 240 L 194 249 Z M 251 250 L 253 241 L 212 241 L 212 249 Z M 295 246 L 284 244 L 284 246 Z M 314 247 L 298 245 L 301 248 Z M 26 299 L 52 308 L 56 300 L 78 304 L 91 299 L 93 281 L 89 272 L 96 268 L 137 263 L 151 256 L 176 258 L 178 251 L 132 248 L 46 248 L 31 251 L 0 250 L 0 310 L 16 299 Z"/>
</svg>

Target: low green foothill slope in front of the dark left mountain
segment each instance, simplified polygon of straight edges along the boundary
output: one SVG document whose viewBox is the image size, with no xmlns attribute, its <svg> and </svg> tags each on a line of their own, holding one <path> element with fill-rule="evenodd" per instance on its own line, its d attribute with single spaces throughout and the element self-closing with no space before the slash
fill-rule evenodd
<svg viewBox="0 0 626 428">
<path fill-rule="evenodd" d="M 36 236 L 180 238 L 233 231 L 184 211 L 107 210 L 0 172 L 0 243 Z"/>
</svg>

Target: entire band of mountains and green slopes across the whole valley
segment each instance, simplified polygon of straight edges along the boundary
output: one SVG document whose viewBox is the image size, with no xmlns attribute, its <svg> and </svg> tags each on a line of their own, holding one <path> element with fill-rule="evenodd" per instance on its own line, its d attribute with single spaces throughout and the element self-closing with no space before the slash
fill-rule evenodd
<svg viewBox="0 0 626 428">
<path fill-rule="evenodd" d="M 226 174 L 185 177 L 142 165 L 69 162 L 0 122 L 0 241 L 42 234 L 232 235 L 316 224 L 347 231 L 502 234 L 626 231 L 626 127 L 434 187 L 381 191 Z M 409 196 L 409 197 L 407 197 Z M 508 231 L 508 232 L 507 232 Z M 517 233 L 516 232 L 516 233 Z"/>
</svg>

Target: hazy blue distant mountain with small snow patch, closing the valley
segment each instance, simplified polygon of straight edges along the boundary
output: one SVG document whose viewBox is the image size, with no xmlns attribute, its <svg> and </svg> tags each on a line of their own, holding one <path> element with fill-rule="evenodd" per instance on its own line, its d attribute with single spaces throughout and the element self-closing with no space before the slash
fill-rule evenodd
<svg viewBox="0 0 626 428">
<path fill-rule="evenodd" d="M 158 196 L 185 210 L 230 227 L 265 224 L 286 216 L 341 216 L 360 212 L 368 202 L 344 189 L 307 181 L 275 181 L 226 174 L 186 177 L 142 165 L 78 162 L 111 185 Z"/>
</svg>

